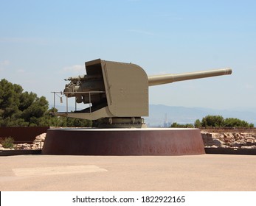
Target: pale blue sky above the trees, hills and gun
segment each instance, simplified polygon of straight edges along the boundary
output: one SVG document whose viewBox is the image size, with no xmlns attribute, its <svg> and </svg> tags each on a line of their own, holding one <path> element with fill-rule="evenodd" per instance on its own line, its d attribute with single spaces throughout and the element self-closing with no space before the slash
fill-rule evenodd
<svg viewBox="0 0 256 206">
<path fill-rule="evenodd" d="M 50 92 L 97 58 L 148 75 L 230 67 L 150 88 L 150 104 L 256 107 L 256 1 L 0 0 L 0 79 L 52 104 Z"/>
</svg>

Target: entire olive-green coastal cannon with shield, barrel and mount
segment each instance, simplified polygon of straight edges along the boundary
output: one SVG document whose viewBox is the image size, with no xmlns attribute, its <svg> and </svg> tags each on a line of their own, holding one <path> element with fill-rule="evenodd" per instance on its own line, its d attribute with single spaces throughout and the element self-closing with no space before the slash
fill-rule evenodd
<svg viewBox="0 0 256 206">
<path fill-rule="evenodd" d="M 86 74 L 69 77 L 63 94 L 89 107 L 58 116 L 97 120 L 102 127 L 145 127 L 148 116 L 148 87 L 171 82 L 232 74 L 230 68 L 183 74 L 149 76 L 133 63 L 92 60 L 85 63 Z"/>
</svg>

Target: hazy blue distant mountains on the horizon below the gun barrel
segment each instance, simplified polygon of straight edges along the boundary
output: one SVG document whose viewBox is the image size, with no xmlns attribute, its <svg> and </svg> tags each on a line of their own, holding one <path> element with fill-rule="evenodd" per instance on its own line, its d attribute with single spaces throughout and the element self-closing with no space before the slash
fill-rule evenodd
<svg viewBox="0 0 256 206">
<path fill-rule="evenodd" d="M 148 127 L 163 127 L 165 124 L 193 124 L 196 119 L 207 116 L 223 116 L 224 118 L 239 118 L 256 126 L 256 108 L 236 108 L 216 110 L 204 107 L 173 107 L 163 104 L 150 104 L 149 116 L 145 117 Z"/>
</svg>

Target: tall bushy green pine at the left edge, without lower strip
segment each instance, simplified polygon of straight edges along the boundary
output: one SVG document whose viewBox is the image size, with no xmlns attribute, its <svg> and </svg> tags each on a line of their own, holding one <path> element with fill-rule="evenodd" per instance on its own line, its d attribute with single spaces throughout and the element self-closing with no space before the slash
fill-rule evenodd
<svg viewBox="0 0 256 206">
<path fill-rule="evenodd" d="M 44 96 L 23 92 L 21 85 L 0 81 L 0 126 L 46 126 L 48 102 Z"/>
</svg>

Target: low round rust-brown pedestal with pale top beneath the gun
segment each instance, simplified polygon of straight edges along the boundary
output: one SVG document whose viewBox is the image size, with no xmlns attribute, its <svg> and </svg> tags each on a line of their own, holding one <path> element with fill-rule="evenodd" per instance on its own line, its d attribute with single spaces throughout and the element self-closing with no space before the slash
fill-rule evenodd
<svg viewBox="0 0 256 206">
<path fill-rule="evenodd" d="M 48 129 L 42 154 L 205 154 L 199 129 Z"/>
</svg>

